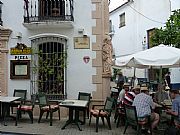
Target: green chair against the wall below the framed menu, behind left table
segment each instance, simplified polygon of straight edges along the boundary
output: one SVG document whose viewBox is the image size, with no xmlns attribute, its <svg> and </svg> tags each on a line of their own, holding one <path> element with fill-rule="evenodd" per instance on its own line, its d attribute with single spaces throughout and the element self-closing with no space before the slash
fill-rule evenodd
<svg viewBox="0 0 180 135">
<path fill-rule="evenodd" d="M 10 104 L 11 113 L 13 114 L 13 107 L 18 107 L 18 105 L 23 104 L 26 100 L 27 90 L 14 89 L 13 97 L 21 97 L 20 100 L 14 101 Z"/>
</svg>

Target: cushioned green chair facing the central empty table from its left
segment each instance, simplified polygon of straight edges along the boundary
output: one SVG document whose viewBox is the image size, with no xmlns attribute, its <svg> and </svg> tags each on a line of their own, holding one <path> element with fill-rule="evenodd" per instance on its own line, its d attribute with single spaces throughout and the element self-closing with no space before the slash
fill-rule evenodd
<svg viewBox="0 0 180 135">
<path fill-rule="evenodd" d="M 44 112 L 47 112 L 46 119 L 48 118 L 48 115 L 50 113 L 50 126 L 52 126 L 52 117 L 53 117 L 54 112 L 58 111 L 59 120 L 60 120 L 59 102 L 49 102 L 45 93 L 38 94 L 38 101 L 39 101 L 39 108 L 40 108 L 40 115 L 39 115 L 38 123 L 40 123 Z"/>
</svg>

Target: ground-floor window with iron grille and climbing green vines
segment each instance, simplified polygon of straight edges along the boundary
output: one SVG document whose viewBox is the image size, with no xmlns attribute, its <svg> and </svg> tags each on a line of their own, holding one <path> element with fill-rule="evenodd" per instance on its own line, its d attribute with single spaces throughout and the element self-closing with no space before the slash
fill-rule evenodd
<svg viewBox="0 0 180 135">
<path fill-rule="evenodd" d="M 33 49 L 31 93 L 44 92 L 51 99 L 65 98 L 67 57 L 65 45 L 53 41 L 43 42 Z"/>
</svg>

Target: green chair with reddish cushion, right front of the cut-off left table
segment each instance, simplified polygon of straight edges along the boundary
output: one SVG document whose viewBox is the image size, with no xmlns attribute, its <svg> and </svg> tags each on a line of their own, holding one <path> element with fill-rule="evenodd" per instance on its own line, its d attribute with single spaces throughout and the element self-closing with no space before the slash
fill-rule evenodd
<svg viewBox="0 0 180 135">
<path fill-rule="evenodd" d="M 17 113 L 16 113 L 16 123 L 15 125 L 17 126 L 17 121 L 19 118 L 21 118 L 21 112 L 27 112 L 29 115 L 29 118 L 31 119 L 31 123 L 33 123 L 33 108 L 35 105 L 35 99 L 32 98 L 33 95 L 31 95 L 31 100 L 25 100 L 22 102 L 20 105 L 17 107 Z"/>
</svg>

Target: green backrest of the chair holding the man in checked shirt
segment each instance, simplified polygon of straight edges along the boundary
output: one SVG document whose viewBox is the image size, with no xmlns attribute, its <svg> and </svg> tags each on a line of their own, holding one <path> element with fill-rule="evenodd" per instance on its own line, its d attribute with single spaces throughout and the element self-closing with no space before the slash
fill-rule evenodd
<svg viewBox="0 0 180 135">
<path fill-rule="evenodd" d="M 138 117 L 137 117 L 136 107 L 124 104 L 124 110 L 126 115 L 126 121 L 132 125 L 137 125 Z"/>
</svg>

